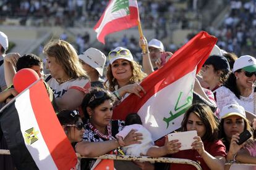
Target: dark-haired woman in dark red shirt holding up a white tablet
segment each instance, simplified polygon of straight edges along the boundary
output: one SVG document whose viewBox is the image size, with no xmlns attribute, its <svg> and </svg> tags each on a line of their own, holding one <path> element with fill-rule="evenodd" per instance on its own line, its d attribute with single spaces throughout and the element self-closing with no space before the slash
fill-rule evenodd
<svg viewBox="0 0 256 170">
<path fill-rule="evenodd" d="M 218 140 L 218 122 L 210 107 L 205 104 L 192 105 L 186 111 L 181 124 L 183 131 L 197 131 L 192 149 L 179 150 L 179 140 L 162 141 L 161 147 L 152 147 L 147 155 L 160 157 L 171 155 L 172 158 L 185 158 L 197 161 L 202 169 L 223 169 L 225 162 L 225 146 Z M 171 164 L 170 169 L 195 169 L 187 164 Z"/>
</svg>

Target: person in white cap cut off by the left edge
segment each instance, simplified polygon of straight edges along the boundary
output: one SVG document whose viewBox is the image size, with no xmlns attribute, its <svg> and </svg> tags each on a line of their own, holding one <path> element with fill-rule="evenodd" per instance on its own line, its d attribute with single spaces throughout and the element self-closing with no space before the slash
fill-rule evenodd
<svg viewBox="0 0 256 170">
<path fill-rule="evenodd" d="M 6 89 L 6 80 L 4 79 L 4 55 L 8 49 L 8 38 L 6 34 L 0 31 L 0 92 Z M 0 109 L 4 103 L 0 103 Z"/>
</svg>

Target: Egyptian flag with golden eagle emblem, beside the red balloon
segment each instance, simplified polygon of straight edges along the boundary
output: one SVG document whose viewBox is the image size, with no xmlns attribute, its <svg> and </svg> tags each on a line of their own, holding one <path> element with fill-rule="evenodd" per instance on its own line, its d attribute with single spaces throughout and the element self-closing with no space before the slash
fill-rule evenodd
<svg viewBox="0 0 256 170">
<path fill-rule="evenodd" d="M 42 80 L 0 110 L 0 124 L 17 169 L 70 169 L 77 163 Z"/>
</svg>

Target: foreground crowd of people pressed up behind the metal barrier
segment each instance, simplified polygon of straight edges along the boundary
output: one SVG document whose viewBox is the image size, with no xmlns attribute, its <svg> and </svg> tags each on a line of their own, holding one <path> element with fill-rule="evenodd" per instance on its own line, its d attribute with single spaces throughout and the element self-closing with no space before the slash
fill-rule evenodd
<svg viewBox="0 0 256 170">
<path fill-rule="evenodd" d="M 12 86 L 17 71 L 35 70 L 45 81 L 49 99 L 75 152 L 92 158 L 79 158 L 75 169 L 95 167 L 98 161 L 93 158 L 106 153 L 186 158 L 196 161 L 203 169 L 252 168 L 225 163 L 256 164 L 256 59 L 250 55 L 237 57 L 216 45 L 213 47 L 195 77 L 193 92 L 202 100 L 186 111 L 179 129 L 197 131 L 197 136 L 192 149 L 180 150 L 182 141 L 168 140 L 166 136 L 153 141 L 137 113 L 130 113 L 125 121 L 113 119 L 113 109 L 129 94 L 140 98 L 147 94 L 140 85 L 144 78 L 171 62 L 173 54 L 164 51 L 159 39 L 147 42 L 142 37 L 137 44 L 145 47 L 140 54 L 142 65 L 134 60 L 129 49 L 117 46 L 109 50 L 109 64 L 105 69 L 107 57 L 100 50 L 90 47 L 77 55 L 69 42 L 51 40 L 43 47 L 45 67 L 49 71 L 49 75 L 44 75 L 43 60 L 36 55 L 6 54 L 8 38 L 0 32 L 0 102 L 4 105 L 18 94 Z M 252 137 L 239 144 L 242 140 L 239 134 L 245 129 Z M 7 149 L 2 132 L 0 135 L 0 146 Z M 193 168 L 188 164 L 121 163 L 130 169 Z M 0 156 L 0 166 L 14 169 L 15 163 L 8 156 Z"/>
</svg>

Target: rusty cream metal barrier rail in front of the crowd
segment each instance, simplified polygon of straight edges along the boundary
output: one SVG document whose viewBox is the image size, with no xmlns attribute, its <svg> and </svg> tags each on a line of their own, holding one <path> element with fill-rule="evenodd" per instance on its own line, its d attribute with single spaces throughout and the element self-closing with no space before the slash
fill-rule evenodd
<svg viewBox="0 0 256 170">
<path fill-rule="evenodd" d="M 0 155 L 11 155 L 9 150 L 0 150 Z M 87 158 L 80 156 L 77 153 L 77 157 L 79 158 Z M 192 166 L 195 166 L 197 169 L 201 169 L 201 166 L 192 160 L 187 159 L 181 159 L 181 158 L 153 158 L 150 156 L 130 156 L 130 155 L 101 155 L 96 157 L 95 159 L 101 159 L 101 160 L 122 160 L 122 161 L 148 161 L 148 162 L 158 162 L 158 163 L 179 163 L 179 164 L 190 164 Z"/>
</svg>

